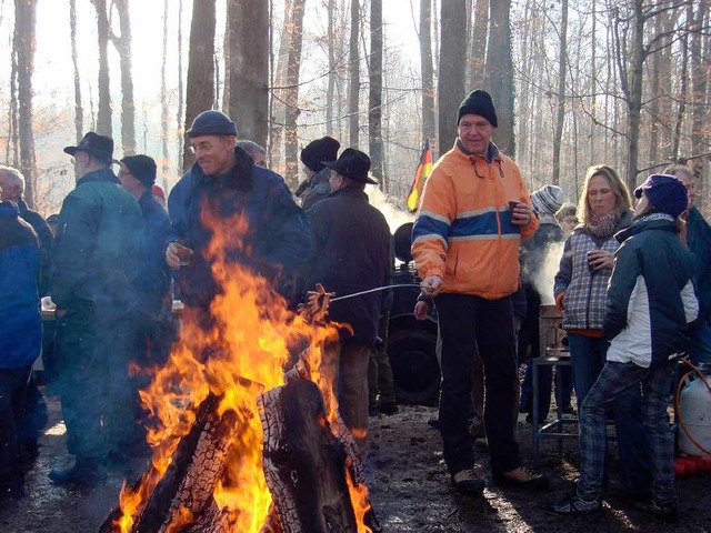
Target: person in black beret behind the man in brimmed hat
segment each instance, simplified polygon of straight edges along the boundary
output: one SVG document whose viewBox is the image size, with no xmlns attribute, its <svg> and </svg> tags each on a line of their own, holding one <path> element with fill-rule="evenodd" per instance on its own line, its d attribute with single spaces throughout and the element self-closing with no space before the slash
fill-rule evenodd
<svg viewBox="0 0 711 533">
<path fill-rule="evenodd" d="M 296 194 L 301 199 L 304 210 L 331 193 L 331 170 L 323 162 L 336 161 L 339 148 L 341 143 L 327 135 L 311 141 L 301 150 L 301 162 L 307 179 L 299 184 Z"/>
</svg>

